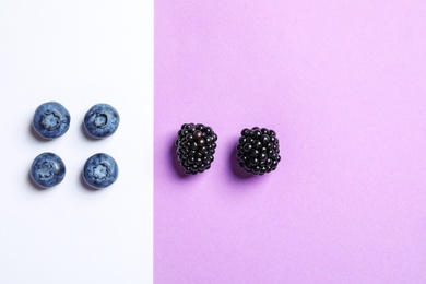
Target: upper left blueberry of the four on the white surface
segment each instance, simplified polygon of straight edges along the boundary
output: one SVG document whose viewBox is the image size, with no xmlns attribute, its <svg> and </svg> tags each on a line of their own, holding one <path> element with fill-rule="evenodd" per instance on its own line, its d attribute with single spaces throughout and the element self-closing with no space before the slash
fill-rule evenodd
<svg viewBox="0 0 426 284">
<path fill-rule="evenodd" d="M 32 125 L 42 138 L 51 140 L 63 135 L 70 122 L 71 117 L 67 108 L 57 102 L 48 102 L 37 107 Z"/>
</svg>

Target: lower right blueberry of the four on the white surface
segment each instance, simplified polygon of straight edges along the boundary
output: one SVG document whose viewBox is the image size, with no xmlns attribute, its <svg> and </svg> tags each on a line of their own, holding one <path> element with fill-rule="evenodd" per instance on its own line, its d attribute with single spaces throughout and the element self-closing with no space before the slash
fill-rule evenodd
<svg viewBox="0 0 426 284">
<path fill-rule="evenodd" d="M 91 156 L 83 168 L 83 178 L 88 186 L 100 189 L 113 185 L 118 177 L 116 161 L 108 154 Z"/>
</svg>

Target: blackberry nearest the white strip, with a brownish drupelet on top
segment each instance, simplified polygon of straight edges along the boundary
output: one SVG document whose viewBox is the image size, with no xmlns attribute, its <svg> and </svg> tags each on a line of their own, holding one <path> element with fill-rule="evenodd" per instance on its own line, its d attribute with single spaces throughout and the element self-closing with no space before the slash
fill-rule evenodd
<svg viewBox="0 0 426 284">
<path fill-rule="evenodd" d="M 202 123 L 185 123 L 175 141 L 180 165 L 188 175 L 208 170 L 214 161 L 217 135 Z"/>
</svg>

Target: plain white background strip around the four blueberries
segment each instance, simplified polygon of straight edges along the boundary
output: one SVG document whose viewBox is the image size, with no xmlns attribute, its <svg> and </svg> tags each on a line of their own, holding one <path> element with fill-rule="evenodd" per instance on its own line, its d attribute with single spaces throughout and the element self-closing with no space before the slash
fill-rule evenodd
<svg viewBox="0 0 426 284">
<path fill-rule="evenodd" d="M 153 1 L 0 1 L 0 283 L 152 283 Z M 57 100 L 69 131 L 40 141 L 38 105 Z M 82 121 L 96 103 L 120 114 L 94 141 Z M 29 166 L 57 153 L 67 175 L 39 190 Z M 118 163 L 116 184 L 90 190 L 86 158 Z"/>
</svg>

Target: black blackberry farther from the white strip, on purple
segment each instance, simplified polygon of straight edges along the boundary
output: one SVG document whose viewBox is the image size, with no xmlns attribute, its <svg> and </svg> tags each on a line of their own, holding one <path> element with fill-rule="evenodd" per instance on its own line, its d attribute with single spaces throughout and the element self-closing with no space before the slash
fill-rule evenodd
<svg viewBox="0 0 426 284">
<path fill-rule="evenodd" d="M 237 145 L 238 164 L 253 175 L 275 170 L 280 161 L 280 142 L 273 130 L 242 129 Z"/>
</svg>

